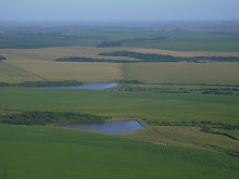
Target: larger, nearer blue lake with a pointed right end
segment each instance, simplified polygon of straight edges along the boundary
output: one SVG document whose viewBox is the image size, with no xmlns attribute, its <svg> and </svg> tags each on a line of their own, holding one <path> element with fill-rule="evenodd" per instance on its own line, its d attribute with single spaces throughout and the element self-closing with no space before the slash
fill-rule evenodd
<svg viewBox="0 0 239 179">
<path fill-rule="evenodd" d="M 129 131 L 136 131 L 143 129 L 144 127 L 140 125 L 137 120 L 122 120 L 122 122 L 108 122 L 108 123 L 91 123 L 91 124 L 73 124 L 73 125 L 62 125 L 61 127 L 74 128 L 74 129 L 85 129 L 100 131 L 110 135 L 121 135 Z"/>
</svg>

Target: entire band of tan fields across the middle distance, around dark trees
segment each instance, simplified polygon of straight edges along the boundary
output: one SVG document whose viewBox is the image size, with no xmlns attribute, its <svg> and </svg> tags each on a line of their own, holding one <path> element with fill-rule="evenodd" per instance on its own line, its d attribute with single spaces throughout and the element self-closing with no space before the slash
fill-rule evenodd
<svg viewBox="0 0 239 179">
<path fill-rule="evenodd" d="M 109 82 L 122 79 L 138 79 L 146 84 L 222 84 L 239 85 L 239 63 L 77 63 L 53 62 L 59 57 L 85 56 L 95 59 L 136 60 L 124 56 L 100 56 L 101 52 L 137 51 L 176 56 L 235 55 L 219 52 L 176 52 L 136 48 L 62 47 L 42 49 L 1 49 L 4 63 L 17 68 L 1 67 L 0 81 L 20 82 L 42 80 L 80 80 Z M 23 69 L 23 71 L 22 71 Z M 14 71 L 14 72 L 13 72 Z M 18 74 L 21 73 L 21 75 Z"/>
</svg>

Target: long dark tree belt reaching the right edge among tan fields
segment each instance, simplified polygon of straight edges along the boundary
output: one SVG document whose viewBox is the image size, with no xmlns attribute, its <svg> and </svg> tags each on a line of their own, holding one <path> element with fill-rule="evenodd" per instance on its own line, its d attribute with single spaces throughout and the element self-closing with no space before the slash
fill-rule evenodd
<svg viewBox="0 0 239 179">
<path fill-rule="evenodd" d="M 116 51 L 116 52 L 104 52 L 99 55 L 104 56 L 128 56 L 143 60 L 144 62 L 200 62 L 200 61 L 212 61 L 212 62 L 239 62 L 237 56 L 194 56 L 194 57 L 177 57 L 173 55 L 155 54 L 155 53 L 138 53 L 130 51 Z M 140 62 L 140 61 L 138 61 Z"/>
</svg>

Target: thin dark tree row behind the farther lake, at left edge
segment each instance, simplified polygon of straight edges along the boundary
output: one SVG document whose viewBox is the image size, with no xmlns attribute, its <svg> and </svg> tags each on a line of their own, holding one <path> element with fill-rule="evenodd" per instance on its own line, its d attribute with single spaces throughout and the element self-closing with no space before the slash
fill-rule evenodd
<svg viewBox="0 0 239 179">
<path fill-rule="evenodd" d="M 25 81 L 20 84 L 0 82 L 0 87 L 56 87 L 56 86 L 80 86 L 81 81 L 63 80 L 63 81 Z"/>
</svg>

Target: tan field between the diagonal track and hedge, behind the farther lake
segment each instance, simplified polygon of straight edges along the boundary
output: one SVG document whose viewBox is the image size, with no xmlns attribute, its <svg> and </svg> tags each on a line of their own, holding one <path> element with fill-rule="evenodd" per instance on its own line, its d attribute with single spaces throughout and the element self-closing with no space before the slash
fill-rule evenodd
<svg viewBox="0 0 239 179">
<path fill-rule="evenodd" d="M 123 78 L 122 63 L 7 61 L 48 80 L 79 80 L 85 82 L 110 82 Z"/>
</svg>

